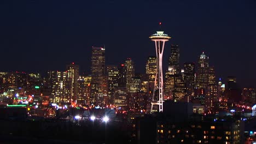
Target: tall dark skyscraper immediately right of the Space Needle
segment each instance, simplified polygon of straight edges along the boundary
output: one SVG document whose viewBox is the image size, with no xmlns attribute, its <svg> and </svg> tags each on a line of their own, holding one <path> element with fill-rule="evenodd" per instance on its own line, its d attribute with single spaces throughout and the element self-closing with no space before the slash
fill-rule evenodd
<svg viewBox="0 0 256 144">
<path fill-rule="evenodd" d="M 179 74 L 179 46 L 171 45 L 171 56 L 168 61 L 168 73 Z"/>
</svg>

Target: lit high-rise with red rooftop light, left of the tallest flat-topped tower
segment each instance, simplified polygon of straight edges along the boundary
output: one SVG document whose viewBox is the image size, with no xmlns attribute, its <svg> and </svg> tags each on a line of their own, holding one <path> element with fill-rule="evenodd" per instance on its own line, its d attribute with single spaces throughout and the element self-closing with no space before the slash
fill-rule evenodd
<svg viewBox="0 0 256 144">
<path fill-rule="evenodd" d="M 78 95 L 79 66 L 74 63 L 67 65 L 67 78 L 70 88 L 71 101 L 76 103 Z"/>
</svg>

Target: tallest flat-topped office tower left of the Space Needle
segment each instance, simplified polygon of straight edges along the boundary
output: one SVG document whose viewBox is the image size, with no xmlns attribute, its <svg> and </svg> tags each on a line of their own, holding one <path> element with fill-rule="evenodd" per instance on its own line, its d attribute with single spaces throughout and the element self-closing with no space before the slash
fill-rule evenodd
<svg viewBox="0 0 256 144">
<path fill-rule="evenodd" d="M 91 97 L 97 105 L 98 100 L 103 97 L 103 75 L 105 69 L 105 49 L 92 46 L 91 53 Z M 97 94 L 100 93 L 100 94 Z M 97 98 L 99 97 L 99 98 Z"/>
</svg>

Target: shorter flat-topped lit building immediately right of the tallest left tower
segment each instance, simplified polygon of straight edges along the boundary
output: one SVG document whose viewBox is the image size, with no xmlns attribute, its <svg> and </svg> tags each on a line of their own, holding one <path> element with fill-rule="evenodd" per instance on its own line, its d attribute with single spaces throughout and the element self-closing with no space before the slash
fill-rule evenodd
<svg viewBox="0 0 256 144">
<path fill-rule="evenodd" d="M 108 75 L 108 95 L 110 103 L 113 104 L 114 89 L 118 87 L 118 67 L 116 65 L 107 66 L 107 75 Z"/>
</svg>

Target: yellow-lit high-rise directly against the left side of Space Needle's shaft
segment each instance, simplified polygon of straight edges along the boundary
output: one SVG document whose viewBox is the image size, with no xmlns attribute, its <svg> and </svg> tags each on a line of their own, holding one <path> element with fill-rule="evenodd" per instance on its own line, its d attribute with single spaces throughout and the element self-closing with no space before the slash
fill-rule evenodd
<svg viewBox="0 0 256 144">
<path fill-rule="evenodd" d="M 154 56 L 148 57 L 148 61 L 146 64 L 146 74 L 148 75 L 148 81 L 155 81 L 156 74 L 156 62 L 157 59 Z"/>
</svg>

